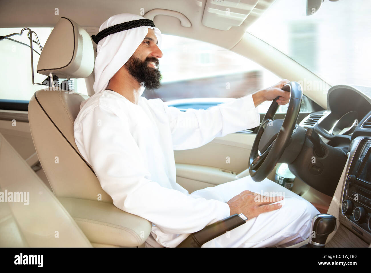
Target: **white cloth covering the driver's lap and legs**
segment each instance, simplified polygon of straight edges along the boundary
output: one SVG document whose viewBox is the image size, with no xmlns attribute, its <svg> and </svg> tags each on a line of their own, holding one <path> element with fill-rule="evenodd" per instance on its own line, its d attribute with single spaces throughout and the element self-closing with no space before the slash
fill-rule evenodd
<svg viewBox="0 0 371 273">
<path fill-rule="evenodd" d="M 309 237 L 312 218 L 319 211 L 301 196 L 267 178 L 255 182 L 250 176 L 246 176 L 200 189 L 191 195 L 227 202 L 245 190 L 261 195 L 283 195 L 285 198 L 279 201 L 282 203 L 281 208 L 259 214 L 202 247 L 287 247 Z"/>
</svg>

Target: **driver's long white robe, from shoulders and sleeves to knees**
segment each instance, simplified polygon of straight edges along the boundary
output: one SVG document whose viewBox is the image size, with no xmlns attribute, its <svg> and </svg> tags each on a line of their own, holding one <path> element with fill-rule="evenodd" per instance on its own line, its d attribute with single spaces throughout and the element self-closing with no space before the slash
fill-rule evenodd
<svg viewBox="0 0 371 273">
<path fill-rule="evenodd" d="M 204 246 L 271 246 L 305 240 L 310 221 L 319 212 L 275 182 L 256 183 L 247 176 L 192 194 L 176 182 L 174 150 L 200 147 L 214 137 L 258 125 L 252 95 L 208 110 L 182 112 L 160 99 L 140 97 L 137 105 L 105 90 L 83 105 L 74 135 L 114 205 L 152 222 L 146 246 L 175 247 L 189 233 L 228 217 L 226 202 L 245 189 L 286 192 L 283 207 L 260 214 Z"/>
</svg>

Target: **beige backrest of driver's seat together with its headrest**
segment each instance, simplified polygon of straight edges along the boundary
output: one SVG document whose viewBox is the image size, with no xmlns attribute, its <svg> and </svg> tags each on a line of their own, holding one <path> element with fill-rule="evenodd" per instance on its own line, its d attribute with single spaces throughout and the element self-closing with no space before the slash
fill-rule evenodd
<svg viewBox="0 0 371 273">
<path fill-rule="evenodd" d="M 59 78 L 85 78 L 94 67 L 89 34 L 73 20 L 61 17 L 47 39 L 37 72 Z M 87 95 L 45 88 L 30 100 L 28 114 L 37 156 L 58 197 L 112 202 L 91 166 L 81 156 L 73 136 L 73 123 Z"/>
</svg>

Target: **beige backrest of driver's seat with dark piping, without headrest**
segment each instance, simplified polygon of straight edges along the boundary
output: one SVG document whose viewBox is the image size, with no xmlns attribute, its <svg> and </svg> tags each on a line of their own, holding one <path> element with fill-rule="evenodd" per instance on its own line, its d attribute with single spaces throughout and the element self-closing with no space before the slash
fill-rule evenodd
<svg viewBox="0 0 371 273">
<path fill-rule="evenodd" d="M 28 108 L 32 139 L 56 196 L 112 202 L 73 136 L 73 123 L 86 98 L 63 90 L 36 91 Z"/>
</svg>

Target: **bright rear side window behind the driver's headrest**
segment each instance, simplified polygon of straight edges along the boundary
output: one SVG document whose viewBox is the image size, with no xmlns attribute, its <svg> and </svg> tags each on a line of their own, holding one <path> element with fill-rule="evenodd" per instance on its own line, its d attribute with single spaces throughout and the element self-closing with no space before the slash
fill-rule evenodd
<svg viewBox="0 0 371 273">
<path fill-rule="evenodd" d="M 9 35 L 19 33 L 22 27 L 0 28 L 0 35 Z M 47 38 L 52 32 L 51 27 L 30 27 L 36 32 L 42 46 L 45 45 Z M 9 39 L 0 41 L 0 100 L 25 100 L 29 101 L 35 91 L 45 88 L 45 85 L 33 85 L 31 74 L 31 56 L 30 56 L 30 40 L 27 38 L 27 30 L 22 36 L 12 36 L 10 39 L 25 43 L 22 45 Z M 33 35 L 33 40 L 36 40 Z M 40 53 L 40 48 L 36 43 L 33 43 L 33 49 Z M 39 83 L 44 81 L 47 76 L 36 72 L 39 55 L 33 52 L 33 69 L 34 81 Z M 75 92 L 87 94 L 85 79 L 72 79 L 75 85 Z M 61 79 L 60 79 L 61 81 Z"/>
</svg>

